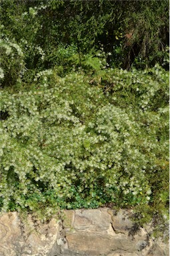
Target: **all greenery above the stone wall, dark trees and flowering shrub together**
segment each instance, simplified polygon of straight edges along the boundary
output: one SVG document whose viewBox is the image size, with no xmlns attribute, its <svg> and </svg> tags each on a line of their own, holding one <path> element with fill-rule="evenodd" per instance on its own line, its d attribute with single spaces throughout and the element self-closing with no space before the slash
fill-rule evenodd
<svg viewBox="0 0 170 256">
<path fill-rule="evenodd" d="M 169 210 L 168 1 L 1 2 L 1 211 Z"/>
</svg>

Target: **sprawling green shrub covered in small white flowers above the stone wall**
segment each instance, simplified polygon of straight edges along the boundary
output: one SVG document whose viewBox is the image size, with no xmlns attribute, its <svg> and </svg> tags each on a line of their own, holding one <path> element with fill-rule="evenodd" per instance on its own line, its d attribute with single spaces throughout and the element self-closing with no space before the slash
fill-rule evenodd
<svg viewBox="0 0 170 256">
<path fill-rule="evenodd" d="M 1 92 L 2 211 L 166 205 L 167 73 L 105 77 L 93 87 L 80 72 L 48 70 L 29 91 Z"/>
</svg>

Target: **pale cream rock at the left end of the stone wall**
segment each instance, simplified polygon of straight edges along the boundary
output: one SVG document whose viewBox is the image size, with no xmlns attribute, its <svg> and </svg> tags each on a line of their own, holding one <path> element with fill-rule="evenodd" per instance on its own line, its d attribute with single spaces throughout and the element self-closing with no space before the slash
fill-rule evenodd
<svg viewBox="0 0 170 256">
<path fill-rule="evenodd" d="M 5 214 L 0 218 L 0 255 L 47 256 L 57 241 L 59 227 L 56 219 L 35 227 L 30 215 L 21 221 L 17 213 Z"/>
</svg>

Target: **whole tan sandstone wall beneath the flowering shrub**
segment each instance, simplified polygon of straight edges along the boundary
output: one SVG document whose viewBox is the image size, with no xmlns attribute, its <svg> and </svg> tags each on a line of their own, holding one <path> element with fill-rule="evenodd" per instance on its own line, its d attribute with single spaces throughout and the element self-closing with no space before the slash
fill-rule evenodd
<svg viewBox="0 0 170 256">
<path fill-rule="evenodd" d="M 1 256 L 168 256 L 169 245 L 153 241 L 129 219 L 129 211 L 108 208 L 65 211 L 64 220 L 21 221 L 0 217 Z"/>
</svg>

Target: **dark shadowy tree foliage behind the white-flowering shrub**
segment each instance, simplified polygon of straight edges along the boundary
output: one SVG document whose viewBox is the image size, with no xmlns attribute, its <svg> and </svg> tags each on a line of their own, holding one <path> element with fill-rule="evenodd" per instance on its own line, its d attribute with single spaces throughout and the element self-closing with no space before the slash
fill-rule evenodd
<svg viewBox="0 0 170 256">
<path fill-rule="evenodd" d="M 114 67 L 167 65 L 168 1 L 7 0 L 1 16 L 3 37 L 15 38 L 28 69 L 58 64 L 61 43 L 75 45 L 78 53 L 103 44 Z"/>
</svg>

